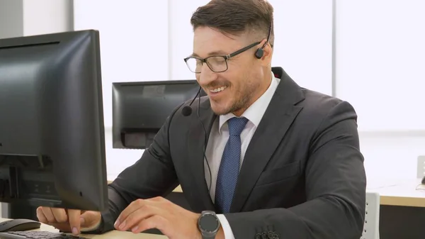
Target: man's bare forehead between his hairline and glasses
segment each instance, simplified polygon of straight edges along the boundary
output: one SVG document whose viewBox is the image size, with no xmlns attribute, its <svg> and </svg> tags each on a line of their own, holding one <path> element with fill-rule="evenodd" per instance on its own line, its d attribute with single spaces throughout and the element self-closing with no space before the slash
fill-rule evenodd
<svg viewBox="0 0 425 239">
<path fill-rule="evenodd" d="M 219 30 L 201 26 L 193 34 L 193 54 L 198 57 L 227 55 L 241 48 L 242 36 L 227 35 Z"/>
</svg>

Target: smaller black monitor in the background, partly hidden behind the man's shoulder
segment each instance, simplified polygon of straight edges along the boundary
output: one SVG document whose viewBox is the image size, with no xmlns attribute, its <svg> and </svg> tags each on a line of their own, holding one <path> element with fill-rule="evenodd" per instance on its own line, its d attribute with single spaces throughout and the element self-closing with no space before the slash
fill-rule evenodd
<svg viewBox="0 0 425 239">
<path fill-rule="evenodd" d="M 113 148 L 149 148 L 166 118 L 198 90 L 195 79 L 113 83 Z"/>
</svg>

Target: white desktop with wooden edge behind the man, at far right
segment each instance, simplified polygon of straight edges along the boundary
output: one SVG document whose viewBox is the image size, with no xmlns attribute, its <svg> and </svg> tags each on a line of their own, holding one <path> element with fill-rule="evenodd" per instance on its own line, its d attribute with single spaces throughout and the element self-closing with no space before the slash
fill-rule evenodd
<svg viewBox="0 0 425 239">
<path fill-rule="evenodd" d="M 368 191 L 380 194 L 381 205 L 425 207 L 425 185 L 421 179 L 370 182 Z"/>
</svg>

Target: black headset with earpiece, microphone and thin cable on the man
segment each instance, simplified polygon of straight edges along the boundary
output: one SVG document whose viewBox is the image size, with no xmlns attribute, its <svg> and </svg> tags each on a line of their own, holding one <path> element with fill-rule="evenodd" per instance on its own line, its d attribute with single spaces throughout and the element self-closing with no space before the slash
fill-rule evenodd
<svg viewBox="0 0 425 239">
<path fill-rule="evenodd" d="M 263 46 L 261 46 L 261 48 L 257 49 L 255 51 L 255 57 L 257 59 L 261 59 L 261 57 L 263 57 L 264 55 L 264 51 L 263 48 L 266 47 L 268 40 L 270 40 L 270 35 L 271 35 L 271 29 L 273 27 L 273 22 L 270 23 L 270 28 L 268 29 L 268 35 L 267 35 L 267 40 L 266 43 L 263 44 Z M 205 160 L 205 162 L 207 163 L 207 167 L 208 167 L 208 172 L 210 173 L 210 186 L 208 187 L 208 193 L 211 194 L 211 184 L 212 184 L 212 175 L 211 175 L 211 169 L 210 169 L 210 164 L 208 163 L 208 159 L 207 159 L 207 155 L 205 155 L 205 151 L 207 150 L 207 143 L 208 143 L 208 138 L 207 138 L 207 130 L 205 130 L 205 126 L 203 125 L 203 122 L 200 120 L 199 117 L 199 108 L 200 108 L 200 91 L 201 91 L 201 87 L 199 87 L 198 93 L 196 94 L 195 97 L 193 97 L 191 104 L 189 104 L 188 106 L 184 106 L 183 109 L 181 109 L 181 114 L 183 116 L 190 116 L 192 114 L 192 104 L 193 101 L 195 101 L 196 97 L 198 97 L 198 120 L 203 128 L 203 133 L 204 133 L 204 146 L 203 146 L 203 159 Z"/>
</svg>

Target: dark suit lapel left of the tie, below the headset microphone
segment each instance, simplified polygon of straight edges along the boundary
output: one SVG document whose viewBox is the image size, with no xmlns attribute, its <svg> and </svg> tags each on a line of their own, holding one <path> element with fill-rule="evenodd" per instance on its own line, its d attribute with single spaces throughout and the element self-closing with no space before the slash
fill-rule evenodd
<svg viewBox="0 0 425 239">
<path fill-rule="evenodd" d="M 197 102 L 193 102 L 196 104 Z M 199 108 L 199 116 L 196 109 L 193 110 L 193 126 L 189 128 L 188 132 L 188 160 L 189 165 L 191 167 L 191 171 L 193 172 L 196 184 L 196 190 L 200 194 L 200 201 L 203 203 L 203 210 L 212 210 L 214 211 L 214 204 L 212 204 L 211 196 L 208 191 L 208 186 L 205 182 L 205 168 L 204 168 L 204 141 L 205 141 L 205 133 L 206 139 L 210 137 L 210 132 L 212 128 L 212 124 L 215 121 L 216 115 L 212 112 L 210 108 L 210 101 L 208 97 L 204 97 L 201 99 L 200 108 Z M 200 123 L 202 121 L 202 124 Z M 205 132 L 204 132 L 205 127 Z"/>
</svg>

